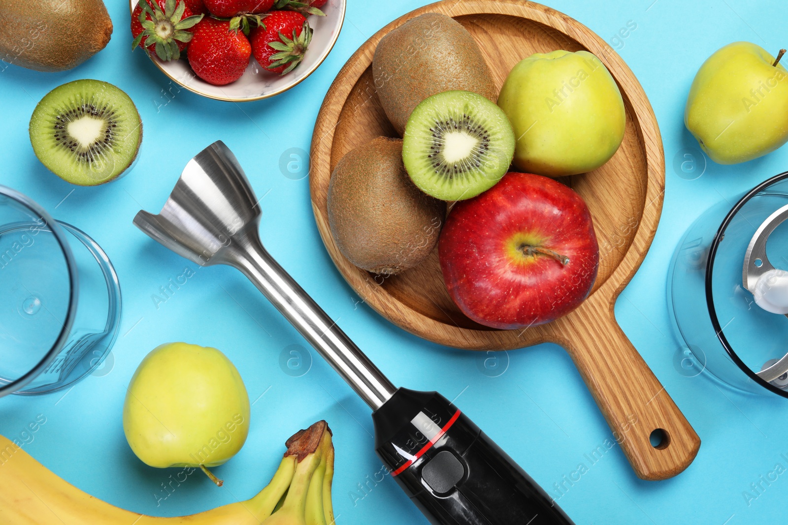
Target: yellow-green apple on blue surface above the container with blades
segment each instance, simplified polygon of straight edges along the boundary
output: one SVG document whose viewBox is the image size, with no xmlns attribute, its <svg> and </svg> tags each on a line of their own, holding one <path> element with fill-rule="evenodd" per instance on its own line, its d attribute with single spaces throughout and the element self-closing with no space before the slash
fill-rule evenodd
<svg viewBox="0 0 788 525">
<path fill-rule="evenodd" d="M 776 150 L 788 141 L 788 71 L 753 43 L 724 46 L 695 75 L 684 124 L 719 164 Z"/>
</svg>

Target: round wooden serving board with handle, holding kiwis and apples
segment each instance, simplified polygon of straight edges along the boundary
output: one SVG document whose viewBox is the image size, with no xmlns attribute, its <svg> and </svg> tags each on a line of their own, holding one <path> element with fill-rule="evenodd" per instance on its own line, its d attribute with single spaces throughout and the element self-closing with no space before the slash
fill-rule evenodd
<svg viewBox="0 0 788 525">
<path fill-rule="evenodd" d="M 589 298 L 550 324 L 500 331 L 474 323 L 444 287 L 437 249 L 417 268 L 385 279 L 356 268 L 331 236 L 326 194 L 334 166 L 356 146 L 394 137 L 374 88 L 372 57 L 383 35 L 423 13 L 444 13 L 470 31 L 500 88 L 508 72 L 533 53 L 564 49 L 597 55 L 619 84 L 626 135 L 618 152 L 594 172 L 563 179 L 593 215 L 600 267 Z M 314 217 L 336 268 L 351 287 L 392 323 L 442 345 L 503 350 L 555 342 L 570 353 L 642 479 L 683 471 L 701 441 L 615 320 L 613 306 L 649 250 L 662 209 L 665 161 L 649 99 L 624 61 L 593 31 L 563 13 L 522 0 L 445 0 L 416 9 L 385 26 L 340 70 L 325 95 L 311 146 L 310 191 Z M 663 431 L 653 447 L 649 436 Z"/>
</svg>

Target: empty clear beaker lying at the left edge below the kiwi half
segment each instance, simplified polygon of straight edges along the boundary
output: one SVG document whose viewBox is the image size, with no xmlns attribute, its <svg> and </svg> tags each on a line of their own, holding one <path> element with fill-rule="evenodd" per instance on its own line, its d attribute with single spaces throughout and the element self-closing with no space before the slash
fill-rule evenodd
<svg viewBox="0 0 788 525">
<path fill-rule="evenodd" d="M 0 397 L 47 394 L 95 372 L 120 320 L 121 289 L 101 247 L 0 186 Z"/>
</svg>

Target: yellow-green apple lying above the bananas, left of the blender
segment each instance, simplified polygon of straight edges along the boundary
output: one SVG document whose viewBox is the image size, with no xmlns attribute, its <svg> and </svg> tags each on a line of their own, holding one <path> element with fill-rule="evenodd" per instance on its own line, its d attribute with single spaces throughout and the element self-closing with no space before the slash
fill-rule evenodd
<svg viewBox="0 0 788 525">
<path fill-rule="evenodd" d="M 151 467 L 215 467 L 249 433 L 249 396 L 238 370 L 215 348 L 158 346 L 128 385 L 123 430 Z"/>
</svg>

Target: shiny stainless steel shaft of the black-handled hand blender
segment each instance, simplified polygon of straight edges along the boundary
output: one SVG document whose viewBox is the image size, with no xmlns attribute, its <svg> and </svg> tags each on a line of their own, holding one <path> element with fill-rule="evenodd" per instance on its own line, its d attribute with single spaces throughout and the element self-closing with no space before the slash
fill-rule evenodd
<svg viewBox="0 0 788 525">
<path fill-rule="evenodd" d="M 196 264 L 238 268 L 377 410 L 396 387 L 263 248 L 259 221 L 251 185 L 221 141 L 189 161 L 161 213 L 134 218 L 140 230 Z"/>
</svg>

